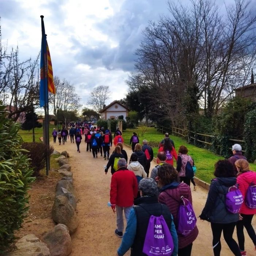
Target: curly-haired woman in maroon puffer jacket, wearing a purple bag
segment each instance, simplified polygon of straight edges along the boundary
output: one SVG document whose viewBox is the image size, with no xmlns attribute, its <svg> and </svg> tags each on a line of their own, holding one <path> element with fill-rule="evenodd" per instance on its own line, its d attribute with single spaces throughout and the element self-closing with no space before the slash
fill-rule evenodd
<svg viewBox="0 0 256 256">
<path fill-rule="evenodd" d="M 172 213 L 173 220 L 178 230 L 178 212 L 180 207 L 181 196 L 186 198 L 192 205 L 192 195 L 190 187 L 186 183 L 179 182 L 179 176 L 176 169 L 167 163 L 161 165 L 158 170 L 158 186 L 160 187 L 160 194 L 158 196 L 158 202 L 167 205 Z M 198 228 L 195 228 L 186 236 L 178 234 L 178 255 L 190 256 L 192 251 L 192 245 L 198 236 Z"/>
</svg>

